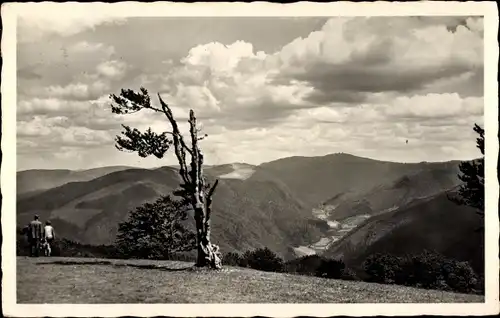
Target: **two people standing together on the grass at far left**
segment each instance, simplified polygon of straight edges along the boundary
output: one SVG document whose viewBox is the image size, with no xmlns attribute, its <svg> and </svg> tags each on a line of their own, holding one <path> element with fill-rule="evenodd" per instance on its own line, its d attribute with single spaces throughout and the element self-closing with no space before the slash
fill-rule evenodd
<svg viewBox="0 0 500 318">
<path fill-rule="evenodd" d="M 45 222 L 45 226 L 43 226 L 38 215 L 35 215 L 33 221 L 27 227 L 27 235 L 30 244 L 30 256 L 37 257 L 41 249 L 43 249 L 45 256 L 50 256 L 51 244 L 56 237 L 50 221 Z"/>
</svg>

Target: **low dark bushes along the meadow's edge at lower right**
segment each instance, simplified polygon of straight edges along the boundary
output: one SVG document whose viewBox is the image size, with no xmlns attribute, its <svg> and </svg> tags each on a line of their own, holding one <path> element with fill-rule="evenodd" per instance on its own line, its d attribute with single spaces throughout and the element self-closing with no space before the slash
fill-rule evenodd
<svg viewBox="0 0 500 318">
<path fill-rule="evenodd" d="M 365 260 L 364 269 L 370 282 L 462 293 L 484 291 L 482 279 L 469 263 L 435 252 L 424 251 L 406 257 L 378 253 Z"/>
</svg>

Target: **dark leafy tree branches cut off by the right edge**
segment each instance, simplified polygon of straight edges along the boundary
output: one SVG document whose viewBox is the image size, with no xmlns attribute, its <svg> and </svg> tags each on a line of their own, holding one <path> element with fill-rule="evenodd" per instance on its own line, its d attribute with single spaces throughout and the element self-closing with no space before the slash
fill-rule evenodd
<svg viewBox="0 0 500 318">
<path fill-rule="evenodd" d="M 458 196 L 450 199 L 457 204 L 475 208 L 477 213 L 484 217 L 484 129 L 475 124 L 474 131 L 479 135 L 476 147 L 483 156 L 460 163 L 458 178 L 463 184 L 458 190 Z"/>
</svg>

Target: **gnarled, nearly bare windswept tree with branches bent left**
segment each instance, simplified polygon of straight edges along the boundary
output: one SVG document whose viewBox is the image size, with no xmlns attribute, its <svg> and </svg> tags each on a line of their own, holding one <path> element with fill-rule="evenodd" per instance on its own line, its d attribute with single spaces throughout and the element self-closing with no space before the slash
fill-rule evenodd
<svg viewBox="0 0 500 318">
<path fill-rule="evenodd" d="M 140 132 L 136 128 L 122 125 L 125 130 L 121 136 L 116 137 L 116 147 L 121 151 L 137 152 L 143 158 L 153 155 L 160 159 L 173 145 L 182 180 L 180 188 L 174 194 L 182 197 L 194 210 L 198 250 L 196 266 L 221 268 L 219 247 L 210 241 L 212 197 L 218 180 L 210 184 L 203 174 L 204 155 L 199 142 L 207 135 L 198 136 L 200 129 L 197 127 L 194 111 L 189 112 L 190 140 L 186 141 L 171 109 L 162 100 L 160 94 L 158 94 L 160 107 L 151 103 L 148 91 L 142 87 L 139 92 L 122 89 L 120 95 L 111 94 L 110 98 L 113 102 L 111 111 L 115 114 L 152 111 L 165 116 L 170 123 L 171 131 L 161 134 L 153 132 L 151 128 Z"/>
</svg>

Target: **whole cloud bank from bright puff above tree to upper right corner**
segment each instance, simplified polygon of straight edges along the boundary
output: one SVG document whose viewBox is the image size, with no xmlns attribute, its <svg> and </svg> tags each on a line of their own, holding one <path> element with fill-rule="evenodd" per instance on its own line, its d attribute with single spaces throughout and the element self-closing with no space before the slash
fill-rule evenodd
<svg viewBox="0 0 500 318">
<path fill-rule="evenodd" d="M 232 120 L 238 109 L 245 121 L 283 118 L 301 108 L 373 104 L 377 94 L 456 93 L 461 85 L 477 89 L 458 99 L 482 95 L 480 83 L 470 85 L 482 74 L 482 20 L 443 21 L 332 18 L 274 53 L 254 52 L 243 41 L 198 45 L 160 80 L 178 105 Z M 450 28 L 453 21 L 460 23 Z"/>
</svg>

